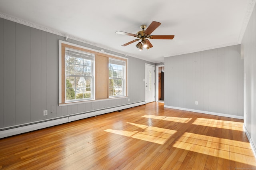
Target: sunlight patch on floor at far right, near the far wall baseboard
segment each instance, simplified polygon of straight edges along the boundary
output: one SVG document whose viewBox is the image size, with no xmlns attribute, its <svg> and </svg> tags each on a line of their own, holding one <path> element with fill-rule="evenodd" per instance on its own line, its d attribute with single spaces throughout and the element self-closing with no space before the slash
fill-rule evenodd
<svg viewBox="0 0 256 170">
<path fill-rule="evenodd" d="M 201 125 L 201 126 L 208 126 L 208 127 L 214 127 L 214 128 L 225 128 L 225 129 L 230 129 L 230 130 L 243 131 L 243 123 L 242 122 L 196 118 L 196 120 L 193 122 L 193 125 Z"/>
</svg>

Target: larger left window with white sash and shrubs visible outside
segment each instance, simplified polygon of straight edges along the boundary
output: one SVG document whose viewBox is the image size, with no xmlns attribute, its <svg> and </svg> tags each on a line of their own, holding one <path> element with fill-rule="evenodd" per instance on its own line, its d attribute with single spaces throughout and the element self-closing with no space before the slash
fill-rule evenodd
<svg viewBox="0 0 256 170">
<path fill-rule="evenodd" d="M 94 99 L 94 54 L 65 48 L 65 103 Z"/>
</svg>

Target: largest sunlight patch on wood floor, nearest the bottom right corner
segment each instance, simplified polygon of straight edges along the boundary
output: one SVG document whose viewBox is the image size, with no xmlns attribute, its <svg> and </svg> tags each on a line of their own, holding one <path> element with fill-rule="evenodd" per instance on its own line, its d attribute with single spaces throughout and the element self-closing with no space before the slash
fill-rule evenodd
<svg viewBox="0 0 256 170">
<path fill-rule="evenodd" d="M 173 146 L 244 164 L 256 164 L 248 142 L 185 132 Z"/>
</svg>

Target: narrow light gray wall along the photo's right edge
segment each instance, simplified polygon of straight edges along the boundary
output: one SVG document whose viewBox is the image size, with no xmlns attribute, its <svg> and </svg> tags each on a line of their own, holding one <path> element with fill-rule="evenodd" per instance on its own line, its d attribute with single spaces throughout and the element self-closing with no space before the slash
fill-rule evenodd
<svg viewBox="0 0 256 170">
<path fill-rule="evenodd" d="M 242 40 L 244 52 L 244 126 L 256 154 L 256 8 Z"/>
</svg>

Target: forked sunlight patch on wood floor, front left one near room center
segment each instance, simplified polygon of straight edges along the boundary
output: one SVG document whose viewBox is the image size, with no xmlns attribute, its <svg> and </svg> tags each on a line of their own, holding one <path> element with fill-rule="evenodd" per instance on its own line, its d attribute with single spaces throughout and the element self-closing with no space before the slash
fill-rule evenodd
<svg viewBox="0 0 256 170">
<path fill-rule="evenodd" d="M 139 127 L 138 130 L 126 131 L 126 130 L 106 129 L 104 131 L 111 132 L 114 134 L 120 134 L 123 136 L 128 136 L 131 138 L 136 138 L 140 140 L 145 140 L 148 142 L 154 142 L 157 144 L 164 144 L 174 133 L 176 133 L 176 130 L 170 130 L 166 128 L 158 128 L 158 127 L 140 125 L 136 123 L 129 123 L 129 124 Z"/>
</svg>

